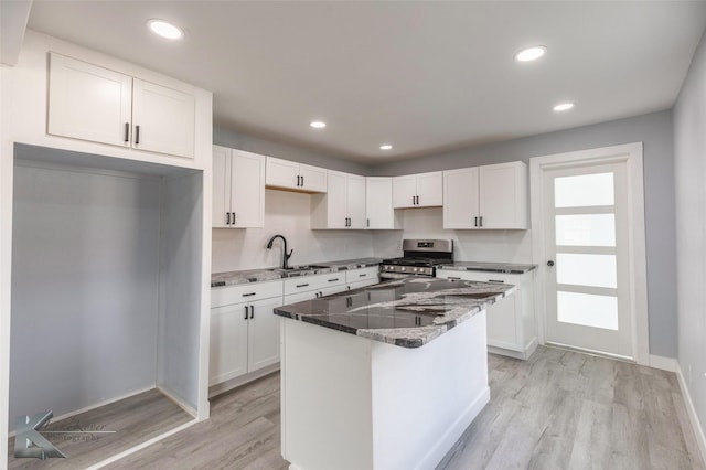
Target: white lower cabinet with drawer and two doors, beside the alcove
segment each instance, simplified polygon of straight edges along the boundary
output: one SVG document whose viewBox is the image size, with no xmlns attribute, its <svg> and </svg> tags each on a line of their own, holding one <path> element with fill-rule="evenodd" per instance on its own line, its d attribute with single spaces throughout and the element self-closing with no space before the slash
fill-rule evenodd
<svg viewBox="0 0 706 470">
<path fill-rule="evenodd" d="M 281 305 L 281 280 L 212 289 L 210 386 L 279 362 Z"/>
</svg>

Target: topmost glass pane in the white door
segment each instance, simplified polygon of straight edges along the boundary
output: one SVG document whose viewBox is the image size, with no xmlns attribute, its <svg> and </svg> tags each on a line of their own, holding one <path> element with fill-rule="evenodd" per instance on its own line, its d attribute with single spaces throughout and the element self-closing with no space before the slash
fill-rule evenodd
<svg viewBox="0 0 706 470">
<path fill-rule="evenodd" d="M 613 173 L 554 179 L 555 207 L 613 205 Z"/>
</svg>

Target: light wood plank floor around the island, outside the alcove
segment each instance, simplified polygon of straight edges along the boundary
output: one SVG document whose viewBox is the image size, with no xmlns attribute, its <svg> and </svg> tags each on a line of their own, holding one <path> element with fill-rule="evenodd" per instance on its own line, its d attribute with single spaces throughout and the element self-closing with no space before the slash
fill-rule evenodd
<svg viewBox="0 0 706 470">
<path fill-rule="evenodd" d="M 438 469 L 706 470 L 673 373 L 550 348 L 491 354 L 489 373 L 490 404 Z M 211 414 L 108 468 L 288 468 L 278 373 L 214 397 Z"/>
</svg>

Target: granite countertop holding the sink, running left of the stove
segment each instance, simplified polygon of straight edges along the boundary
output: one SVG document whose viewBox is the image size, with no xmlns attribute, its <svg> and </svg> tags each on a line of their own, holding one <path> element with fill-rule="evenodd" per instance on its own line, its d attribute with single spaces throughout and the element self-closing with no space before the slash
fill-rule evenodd
<svg viewBox="0 0 706 470">
<path fill-rule="evenodd" d="M 377 266 L 382 258 L 356 258 L 340 261 L 312 263 L 307 265 L 307 269 L 286 271 L 279 268 L 270 269 L 247 269 L 227 273 L 214 273 L 211 275 L 211 287 L 235 286 L 246 282 L 261 282 L 266 280 L 285 279 L 295 276 L 311 276 L 346 269 L 366 268 Z M 297 268 L 297 266 L 293 266 Z"/>
</svg>

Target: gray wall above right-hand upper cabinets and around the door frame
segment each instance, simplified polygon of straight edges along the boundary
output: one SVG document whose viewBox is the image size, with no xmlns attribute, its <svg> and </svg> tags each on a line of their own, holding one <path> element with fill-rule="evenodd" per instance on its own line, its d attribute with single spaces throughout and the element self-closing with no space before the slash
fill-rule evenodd
<svg viewBox="0 0 706 470">
<path fill-rule="evenodd" d="M 475 167 L 644 142 L 650 353 L 676 357 L 676 263 L 672 111 L 653 113 L 373 168 L 376 175 Z"/>
</svg>

